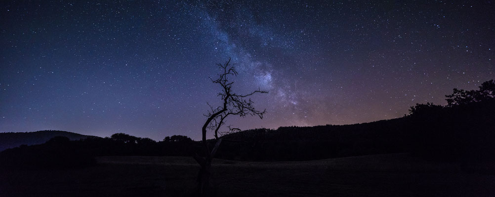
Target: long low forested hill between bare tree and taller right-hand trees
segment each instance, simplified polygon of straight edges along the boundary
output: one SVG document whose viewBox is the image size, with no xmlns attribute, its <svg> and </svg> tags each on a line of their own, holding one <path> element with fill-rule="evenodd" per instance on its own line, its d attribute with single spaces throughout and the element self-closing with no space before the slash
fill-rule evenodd
<svg viewBox="0 0 495 197">
<path fill-rule="evenodd" d="M 403 118 L 352 125 L 252 129 L 225 136 L 219 158 L 312 160 L 407 151 Z"/>
</svg>

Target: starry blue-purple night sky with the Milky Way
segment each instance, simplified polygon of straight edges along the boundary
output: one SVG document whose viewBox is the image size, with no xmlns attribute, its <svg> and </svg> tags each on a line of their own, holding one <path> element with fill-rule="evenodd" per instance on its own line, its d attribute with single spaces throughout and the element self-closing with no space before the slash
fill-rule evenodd
<svg viewBox="0 0 495 197">
<path fill-rule="evenodd" d="M 0 5 L 0 132 L 199 140 L 229 57 L 235 92 L 269 91 L 241 129 L 398 118 L 495 78 L 490 0 Z"/>
</svg>

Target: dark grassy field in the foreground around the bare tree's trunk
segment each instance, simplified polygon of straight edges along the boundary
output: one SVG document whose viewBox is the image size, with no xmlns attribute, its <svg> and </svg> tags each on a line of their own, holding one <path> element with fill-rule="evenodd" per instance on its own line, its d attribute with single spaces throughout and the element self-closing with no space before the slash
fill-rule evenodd
<svg viewBox="0 0 495 197">
<path fill-rule="evenodd" d="M 98 166 L 0 171 L 0 196 L 190 196 L 198 165 L 184 157 L 100 157 Z M 462 166 L 462 167 L 461 167 Z M 315 161 L 215 159 L 217 196 L 493 197 L 493 163 L 432 162 L 406 154 Z"/>
</svg>

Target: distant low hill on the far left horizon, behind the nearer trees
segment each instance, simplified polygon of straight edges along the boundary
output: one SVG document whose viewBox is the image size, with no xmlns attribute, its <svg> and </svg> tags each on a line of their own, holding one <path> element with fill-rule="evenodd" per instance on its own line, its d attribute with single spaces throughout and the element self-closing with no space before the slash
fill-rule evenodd
<svg viewBox="0 0 495 197">
<path fill-rule="evenodd" d="M 8 132 L 0 133 L 0 151 L 18 147 L 20 145 L 43 144 L 55 136 L 68 137 L 70 140 L 85 139 L 95 137 L 90 135 L 81 135 L 67 131 L 44 130 L 36 132 Z"/>
</svg>

